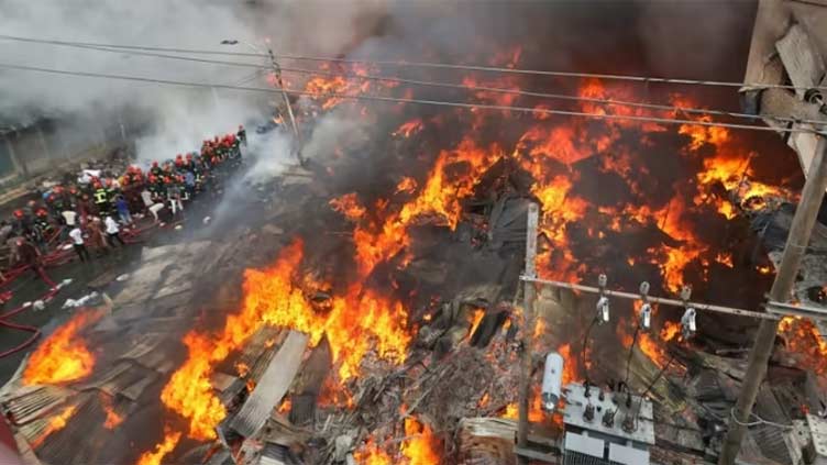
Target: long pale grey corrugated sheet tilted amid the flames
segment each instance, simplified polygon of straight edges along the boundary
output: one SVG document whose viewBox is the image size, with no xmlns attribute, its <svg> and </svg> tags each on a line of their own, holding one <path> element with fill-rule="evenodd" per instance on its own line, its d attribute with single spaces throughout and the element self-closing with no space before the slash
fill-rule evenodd
<svg viewBox="0 0 827 465">
<path fill-rule="evenodd" d="M 290 388 L 293 378 L 296 377 L 301 365 L 307 342 L 307 334 L 290 331 L 264 375 L 258 379 L 258 385 L 253 389 L 253 392 L 231 422 L 230 428 L 245 438 L 250 438 L 261 430 L 273 409 Z"/>
</svg>

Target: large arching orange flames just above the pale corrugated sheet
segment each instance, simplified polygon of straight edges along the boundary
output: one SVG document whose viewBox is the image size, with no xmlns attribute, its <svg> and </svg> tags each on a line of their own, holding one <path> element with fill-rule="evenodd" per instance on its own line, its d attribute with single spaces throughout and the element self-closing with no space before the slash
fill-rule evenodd
<svg viewBox="0 0 827 465">
<path fill-rule="evenodd" d="M 246 270 L 241 311 L 230 314 L 217 333 L 190 332 L 184 337 L 188 358 L 173 374 L 161 399 L 188 420 L 188 436 L 216 438 L 214 428 L 227 410 L 212 391 L 210 375 L 217 363 L 265 324 L 305 332 L 312 344 L 327 335 L 341 379 L 355 376 L 371 350 L 384 359 L 404 362 L 410 335 L 404 326 L 407 312 L 403 306 L 353 287 L 345 297 L 334 297 L 324 312 L 317 312 L 304 290 L 294 285 L 300 281 L 301 258 L 302 243 L 297 241 L 282 251 L 272 267 Z"/>
</svg>

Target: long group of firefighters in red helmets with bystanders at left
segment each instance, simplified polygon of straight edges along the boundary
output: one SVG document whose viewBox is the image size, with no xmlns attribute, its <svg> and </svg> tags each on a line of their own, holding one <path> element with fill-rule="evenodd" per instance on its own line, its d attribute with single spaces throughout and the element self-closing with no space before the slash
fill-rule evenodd
<svg viewBox="0 0 827 465">
<path fill-rule="evenodd" d="M 102 226 L 100 221 L 104 219 L 106 232 L 122 243 L 118 235 L 120 226 L 112 223 L 119 221 L 121 226 L 132 226 L 132 212 L 148 212 L 156 223 L 161 222 L 158 213 L 167 208 L 176 217 L 185 201 L 201 191 L 217 190 L 216 177 L 220 171 L 234 170 L 241 165 L 242 144 L 246 145 L 246 132 L 239 126 L 236 133 L 203 141 L 200 153 L 178 154 L 163 164 L 153 162 L 145 171 L 136 165 L 129 166 L 120 176 L 98 177 L 95 174 L 102 173 L 86 170 L 77 182 L 53 186 L 43 195 L 42 202 L 32 200 L 25 208 L 14 210 L 11 221 L 0 223 L 0 240 L 10 242 L 13 256 L 14 245 L 21 240 L 45 253 L 51 243 L 59 244 L 59 240 L 53 239 L 68 236 L 81 261 L 86 261 L 88 253 L 85 247 L 84 253 L 79 250 L 82 241 L 75 237 L 74 230 L 89 222 Z"/>
</svg>

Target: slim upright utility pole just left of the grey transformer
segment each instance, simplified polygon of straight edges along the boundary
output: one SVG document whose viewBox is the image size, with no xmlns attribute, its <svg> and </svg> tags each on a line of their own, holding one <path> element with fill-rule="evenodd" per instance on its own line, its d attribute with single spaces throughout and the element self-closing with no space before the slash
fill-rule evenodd
<svg viewBox="0 0 827 465">
<path fill-rule="evenodd" d="M 540 221 L 540 209 L 537 203 L 528 206 L 528 231 L 526 232 L 526 270 L 525 277 L 537 278 L 537 228 Z M 522 297 L 522 354 L 520 358 L 520 391 L 517 402 L 517 445 L 525 449 L 528 445 L 528 401 L 531 396 L 531 346 L 534 334 L 534 300 L 537 299 L 536 284 L 523 280 Z M 528 458 L 519 456 L 522 465 L 528 465 Z"/>
</svg>

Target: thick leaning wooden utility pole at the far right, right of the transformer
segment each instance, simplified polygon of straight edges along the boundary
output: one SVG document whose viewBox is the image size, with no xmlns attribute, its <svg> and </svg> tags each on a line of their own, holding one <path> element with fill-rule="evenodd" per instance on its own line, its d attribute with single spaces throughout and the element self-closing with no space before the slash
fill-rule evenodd
<svg viewBox="0 0 827 465">
<path fill-rule="evenodd" d="M 790 226 L 790 235 L 781 257 L 781 265 L 770 290 L 770 301 L 789 302 L 798 275 L 802 258 L 809 244 L 818 209 L 827 189 L 827 136 L 819 134 L 815 155 L 809 165 L 807 179 L 802 190 L 802 199 L 795 209 L 795 215 Z M 767 363 L 772 355 L 775 334 L 779 330 L 776 320 L 761 320 L 756 334 L 756 342 L 749 355 L 747 375 L 738 396 L 735 411 L 729 420 L 729 431 L 718 457 L 718 465 L 732 465 L 741 449 L 746 423 L 752 414 L 758 390 L 767 375 Z"/>
</svg>

